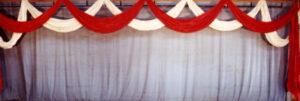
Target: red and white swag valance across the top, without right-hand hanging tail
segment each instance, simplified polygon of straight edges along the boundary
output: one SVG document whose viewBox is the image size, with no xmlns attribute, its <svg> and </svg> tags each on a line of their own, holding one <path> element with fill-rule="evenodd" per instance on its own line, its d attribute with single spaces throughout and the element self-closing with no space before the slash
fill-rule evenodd
<svg viewBox="0 0 300 101">
<path fill-rule="evenodd" d="M 226 0 L 223 0 L 223 1 L 225 2 Z M 255 32 L 260 32 L 260 33 L 267 32 L 264 35 L 266 36 L 266 39 L 270 44 L 272 44 L 275 47 L 284 47 L 289 42 L 288 38 L 281 38 L 278 35 L 278 33 L 276 32 L 276 30 L 285 26 L 291 20 L 289 18 L 291 18 L 291 16 L 293 14 L 296 14 L 298 11 L 297 7 L 295 7 L 297 5 L 296 5 L 296 3 L 294 3 L 294 6 L 291 7 L 290 11 L 288 13 L 286 13 L 285 16 L 282 16 L 282 18 L 278 19 L 281 21 L 272 21 L 270 24 L 268 24 L 268 25 L 272 25 L 272 26 L 268 26 L 268 28 L 266 28 L 266 26 L 263 27 L 262 25 L 264 25 L 263 23 L 265 23 L 265 22 L 266 22 L 266 24 L 267 24 L 267 22 L 270 22 L 271 17 L 270 17 L 269 9 L 268 9 L 268 6 L 267 6 L 267 3 L 265 0 L 260 0 L 257 3 L 257 5 L 255 6 L 255 8 L 253 8 L 247 15 L 242 13 L 240 10 L 238 10 L 238 8 L 235 7 L 232 2 L 229 3 L 229 5 L 231 5 L 231 6 L 229 6 L 231 10 L 233 10 L 234 12 L 238 11 L 238 13 L 240 13 L 240 14 L 244 14 L 244 15 L 239 16 L 239 15 L 237 15 L 237 13 L 233 12 L 235 14 L 235 17 L 237 18 L 237 20 L 232 20 L 232 21 L 221 21 L 218 19 L 213 19 L 217 16 L 217 12 L 220 11 L 221 8 L 225 5 L 225 3 L 222 5 L 221 2 L 219 3 L 218 10 L 211 9 L 209 11 L 209 12 L 213 11 L 214 13 L 206 12 L 204 14 L 204 11 L 200 7 L 198 7 L 194 1 L 182 0 L 177 5 L 175 5 L 175 7 L 173 7 L 170 11 L 168 11 L 166 14 L 164 12 L 161 12 L 161 14 L 165 14 L 165 16 L 168 17 L 167 20 L 162 19 L 160 17 L 161 14 L 156 14 L 156 16 L 158 16 L 158 18 L 155 18 L 152 20 L 138 20 L 138 19 L 134 19 L 133 15 L 131 15 L 131 18 L 128 17 L 129 16 L 128 14 L 135 13 L 135 15 L 137 15 L 139 10 L 135 10 L 134 12 L 132 12 L 132 10 L 131 11 L 126 10 L 126 12 L 130 12 L 130 13 L 126 13 L 126 12 L 122 13 L 122 11 L 119 8 L 117 8 L 111 1 L 97 0 L 88 10 L 85 11 L 85 13 L 81 12 L 78 9 L 74 11 L 73 9 L 76 9 L 77 7 L 72 5 L 70 2 L 66 2 L 66 3 L 69 5 L 69 6 L 67 6 L 68 8 L 72 8 L 72 10 L 70 10 L 70 12 L 73 12 L 72 14 L 75 14 L 75 12 L 80 12 L 82 15 L 85 15 L 85 17 L 87 17 L 89 15 L 90 15 L 90 17 L 94 16 L 101 9 L 102 5 L 105 4 L 107 6 L 108 10 L 112 12 L 112 14 L 119 16 L 119 14 L 122 13 L 121 15 L 127 16 L 124 18 L 126 18 L 128 21 L 125 19 L 120 20 L 120 18 L 122 18 L 122 17 L 116 17 L 116 16 L 108 17 L 108 18 L 91 17 L 91 18 L 95 18 L 95 19 L 94 20 L 92 20 L 92 19 L 83 20 L 83 19 L 85 19 L 85 17 L 83 17 L 81 14 L 77 14 L 77 15 L 81 15 L 81 16 L 78 16 L 77 18 L 75 16 L 75 18 L 67 19 L 67 20 L 51 18 L 51 16 L 59 8 L 59 6 L 61 5 L 62 2 L 63 2 L 63 0 L 58 1 L 53 7 L 51 7 L 46 12 L 42 13 L 41 11 L 36 9 L 33 5 L 31 5 L 28 2 L 28 0 L 22 0 L 21 10 L 19 12 L 19 18 L 18 18 L 18 20 L 21 22 L 13 21 L 3 15 L 0 15 L 1 20 L 3 20 L 2 24 L 0 23 L 0 26 L 2 26 L 4 29 L 7 29 L 11 32 L 30 32 L 41 26 L 44 26 L 50 30 L 57 31 L 57 32 L 72 32 L 72 31 L 79 29 L 82 26 L 85 26 L 88 29 L 91 29 L 95 32 L 99 32 L 99 33 L 103 34 L 103 33 L 109 33 L 109 32 L 116 31 L 118 29 L 123 28 L 126 25 L 128 25 L 134 29 L 140 30 L 140 31 L 156 30 L 165 25 L 171 29 L 173 29 L 172 26 L 179 27 L 178 25 L 180 25 L 181 27 L 179 27 L 179 29 L 187 30 L 187 31 L 182 31 L 182 30 L 174 29 L 174 30 L 180 31 L 180 32 L 198 31 L 201 28 L 205 28 L 206 26 L 209 26 L 218 31 L 232 31 L 232 30 L 241 28 L 244 25 L 246 28 L 249 28 L 250 30 L 254 30 Z M 206 18 L 209 17 L 211 20 L 201 20 L 201 21 L 206 21 L 204 23 L 204 22 L 197 22 L 197 21 L 185 22 L 185 21 L 187 21 L 187 19 L 184 19 L 184 20 L 182 20 L 182 22 L 185 22 L 185 23 L 179 23 L 181 19 L 175 19 L 175 18 L 180 14 L 180 12 L 182 11 L 182 9 L 185 7 L 186 4 L 190 8 L 190 10 L 194 13 L 194 15 L 196 15 L 196 16 L 201 15 L 202 17 L 206 16 Z M 142 5 L 142 3 L 140 4 L 140 6 L 141 5 Z M 155 5 L 154 5 L 154 7 L 157 8 L 157 6 L 155 6 Z M 216 8 L 216 7 L 214 7 L 214 8 Z M 133 6 L 131 8 L 138 9 L 138 7 L 136 8 L 135 6 Z M 153 8 L 153 6 L 151 6 L 150 8 Z M 156 12 L 158 10 L 159 9 L 155 9 L 155 10 L 153 10 L 153 12 Z M 29 13 L 36 19 L 24 22 L 26 20 L 26 12 L 27 11 L 29 11 Z M 262 20 L 263 20 L 262 23 L 259 23 L 261 21 L 256 21 L 253 18 L 258 14 L 259 11 L 261 11 L 261 16 L 262 16 Z M 293 14 L 291 14 L 291 13 L 293 13 Z M 209 14 L 214 14 L 214 15 L 209 15 Z M 300 14 L 300 12 L 298 12 L 298 15 L 299 14 Z M 199 17 L 196 17 L 196 18 L 199 18 Z M 174 18 L 174 20 L 171 20 L 173 18 Z M 196 18 L 193 18 L 193 19 L 196 19 Z M 206 19 L 206 18 L 203 18 L 203 19 Z M 81 20 L 79 20 L 79 19 L 81 19 Z M 96 19 L 105 20 L 105 21 L 103 21 L 103 20 L 98 21 L 98 24 L 100 24 L 100 25 L 101 25 L 101 23 L 102 24 L 105 23 L 105 25 L 101 25 L 103 28 L 100 28 L 99 27 L 100 25 L 98 26 L 98 25 L 93 25 L 93 24 L 92 25 L 91 24 L 83 24 L 83 23 L 88 23 L 89 21 L 93 22 L 95 24 L 94 21 Z M 112 21 L 109 21 L 110 24 L 107 22 L 108 20 L 112 20 Z M 189 20 L 192 20 L 192 19 L 189 19 Z M 200 19 L 198 19 L 198 20 L 200 21 Z M 243 23 L 242 22 L 242 21 L 249 21 L 249 20 L 254 21 L 254 23 L 257 23 L 257 25 L 260 25 L 260 27 L 256 27 L 256 28 L 260 28 L 260 29 L 250 27 L 253 25 L 249 25 L 249 24 L 253 24 L 253 23 L 249 23 L 249 22 Z M 124 24 L 125 22 L 127 22 L 127 23 Z M 8 24 L 6 24 L 6 23 L 8 23 Z M 123 24 L 121 24 L 121 23 L 123 23 Z M 173 25 L 168 26 L 170 23 L 172 23 Z M 175 24 L 175 23 L 177 23 L 177 24 Z M 189 23 L 189 24 L 187 24 L 187 23 Z M 279 24 L 279 23 L 281 23 L 281 24 Z M 203 24 L 203 26 L 199 26 L 200 24 Z M 198 25 L 198 27 L 196 27 L 196 29 L 191 30 L 191 28 L 192 28 L 191 26 L 197 26 L 197 25 Z M 20 27 L 12 27 L 12 26 L 20 26 Z M 190 31 L 188 31 L 188 29 Z M 268 31 L 268 29 L 270 29 L 270 30 Z M 104 31 L 104 30 L 106 30 L 106 31 Z M 9 49 L 9 48 L 13 47 L 16 44 L 17 40 L 20 38 L 20 36 L 21 36 L 20 34 L 15 33 L 13 35 L 12 39 L 9 40 L 8 42 L 5 42 L 2 40 L 2 38 L 0 38 L 0 47 L 2 47 L 4 49 Z"/>
</svg>

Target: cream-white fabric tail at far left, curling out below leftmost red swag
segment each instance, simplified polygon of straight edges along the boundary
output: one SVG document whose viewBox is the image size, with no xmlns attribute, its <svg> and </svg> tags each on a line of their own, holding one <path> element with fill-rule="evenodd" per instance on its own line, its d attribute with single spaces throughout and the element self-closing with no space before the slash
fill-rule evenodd
<svg viewBox="0 0 300 101">
<path fill-rule="evenodd" d="M 27 8 L 24 2 L 21 3 L 19 15 L 18 15 L 18 21 L 26 21 L 27 20 Z M 13 33 L 11 39 L 8 42 L 5 42 L 0 37 L 0 47 L 3 49 L 10 49 L 12 48 L 18 40 L 22 37 L 22 33 Z"/>
</svg>

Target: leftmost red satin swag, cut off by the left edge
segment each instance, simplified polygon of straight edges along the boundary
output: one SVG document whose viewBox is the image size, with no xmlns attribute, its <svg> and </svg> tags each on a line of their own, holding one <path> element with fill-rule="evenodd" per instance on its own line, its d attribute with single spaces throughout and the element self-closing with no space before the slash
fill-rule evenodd
<svg viewBox="0 0 300 101">
<path fill-rule="evenodd" d="M 63 0 L 58 0 L 55 5 L 53 5 L 50 9 L 48 9 L 45 13 L 39 16 L 36 19 L 26 21 L 26 22 L 18 22 L 12 19 L 5 17 L 4 15 L 0 14 L 0 26 L 8 31 L 11 32 L 31 32 L 36 30 L 37 28 L 41 27 L 48 19 L 55 14 L 58 10 L 60 5 L 62 4 Z"/>
</svg>

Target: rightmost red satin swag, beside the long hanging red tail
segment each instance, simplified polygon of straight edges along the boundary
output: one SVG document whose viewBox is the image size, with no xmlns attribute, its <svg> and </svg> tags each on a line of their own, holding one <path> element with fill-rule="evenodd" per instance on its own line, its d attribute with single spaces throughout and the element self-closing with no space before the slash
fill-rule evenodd
<svg viewBox="0 0 300 101">
<path fill-rule="evenodd" d="M 228 1 L 229 2 L 227 3 L 227 5 L 233 13 L 233 15 L 235 16 L 235 18 L 246 28 L 259 33 L 273 32 L 282 28 L 290 22 L 292 17 L 297 15 L 298 11 L 297 3 L 294 2 L 293 6 L 284 16 L 281 16 L 279 19 L 273 20 L 272 22 L 262 22 L 248 16 L 246 13 L 241 11 L 236 5 L 234 5 L 234 3 L 231 0 Z"/>
</svg>

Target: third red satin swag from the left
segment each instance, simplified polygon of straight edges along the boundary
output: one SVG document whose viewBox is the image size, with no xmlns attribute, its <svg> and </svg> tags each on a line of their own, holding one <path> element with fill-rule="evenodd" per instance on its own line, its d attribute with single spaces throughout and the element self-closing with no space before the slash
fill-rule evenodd
<svg viewBox="0 0 300 101">
<path fill-rule="evenodd" d="M 147 4 L 151 11 L 162 23 L 165 24 L 165 26 L 172 30 L 183 33 L 195 32 L 207 27 L 218 16 L 225 3 L 225 0 L 221 0 L 216 6 L 211 8 L 209 11 L 195 18 L 176 19 L 167 15 L 158 6 L 156 6 L 152 2 L 152 0 L 147 0 Z"/>
</svg>

